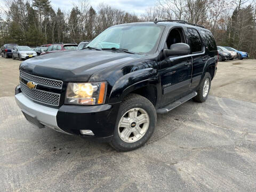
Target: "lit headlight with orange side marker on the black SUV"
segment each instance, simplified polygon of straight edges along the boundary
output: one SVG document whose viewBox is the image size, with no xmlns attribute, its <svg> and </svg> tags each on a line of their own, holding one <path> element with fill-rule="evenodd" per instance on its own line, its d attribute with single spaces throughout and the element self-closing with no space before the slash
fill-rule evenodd
<svg viewBox="0 0 256 192">
<path fill-rule="evenodd" d="M 68 83 L 65 103 L 75 105 L 103 104 L 106 96 L 106 82 Z"/>
</svg>

